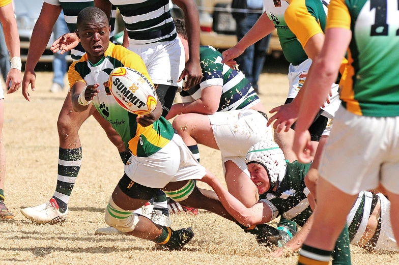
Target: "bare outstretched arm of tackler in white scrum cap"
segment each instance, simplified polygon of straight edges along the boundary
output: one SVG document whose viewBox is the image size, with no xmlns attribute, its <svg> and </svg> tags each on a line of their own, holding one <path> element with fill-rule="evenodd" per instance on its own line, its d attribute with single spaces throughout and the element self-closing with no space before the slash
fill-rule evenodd
<svg viewBox="0 0 399 265">
<path fill-rule="evenodd" d="M 216 176 L 207 174 L 201 181 L 211 186 L 226 211 L 239 223 L 245 226 L 252 226 L 267 223 L 273 219 L 273 212 L 266 203 L 257 202 L 252 207 L 247 208 L 220 184 Z"/>
</svg>

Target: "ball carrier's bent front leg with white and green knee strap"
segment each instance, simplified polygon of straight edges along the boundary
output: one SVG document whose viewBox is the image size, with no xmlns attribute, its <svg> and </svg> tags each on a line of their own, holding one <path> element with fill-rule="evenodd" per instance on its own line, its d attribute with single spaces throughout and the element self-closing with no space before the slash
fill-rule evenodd
<svg viewBox="0 0 399 265">
<path fill-rule="evenodd" d="M 135 183 L 124 174 L 109 199 L 105 210 L 105 222 L 125 234 L 151 240 L 167 249 L 181 249 L 194 236 L 190 228 L 174 231 L 134 213 L 134 210 L 143 206 L 157 190 Z"/>
</svg>

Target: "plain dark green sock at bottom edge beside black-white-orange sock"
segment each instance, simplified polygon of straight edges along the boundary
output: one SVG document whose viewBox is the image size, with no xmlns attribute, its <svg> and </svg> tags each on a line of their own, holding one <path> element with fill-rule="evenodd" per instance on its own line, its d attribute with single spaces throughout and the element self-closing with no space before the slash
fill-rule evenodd
<svg viewBox="0 0 399 265">
<path fill-rule="evenodd" d="M 335 243 L 334 250 L 332 251 L 332 264 L 333 265 L 351 265 L 351 251 L 348 225 L 345 224 L 344 230 L 339 234 Z"/>
</svg>

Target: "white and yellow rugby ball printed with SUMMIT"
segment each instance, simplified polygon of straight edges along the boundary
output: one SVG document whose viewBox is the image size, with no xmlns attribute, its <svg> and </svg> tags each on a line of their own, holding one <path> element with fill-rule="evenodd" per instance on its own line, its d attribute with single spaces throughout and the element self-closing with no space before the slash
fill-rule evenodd
<svg viewBox="0 0 399 265">
<path fill-rule="evenodd" d="M 154 86 L 143 74 L 118 67 L 109 74 L 109 90 L 124 109 L 137 115 L 151 113 L 157 106 Z"/>
</svg>

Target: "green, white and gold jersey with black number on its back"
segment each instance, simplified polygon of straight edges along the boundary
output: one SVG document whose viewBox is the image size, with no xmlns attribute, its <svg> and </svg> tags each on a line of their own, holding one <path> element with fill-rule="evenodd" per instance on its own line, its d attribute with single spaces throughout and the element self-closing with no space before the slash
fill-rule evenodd
<svg viewBox="0 0 399 265">
<path fill-rule="evenodd" d="M 352 31 L 340 98 L 364 116 L 399 115 L 399 20 L 396 0 L 331 0 L 326 28 Z"/>
</svg>

